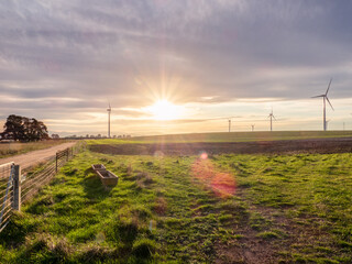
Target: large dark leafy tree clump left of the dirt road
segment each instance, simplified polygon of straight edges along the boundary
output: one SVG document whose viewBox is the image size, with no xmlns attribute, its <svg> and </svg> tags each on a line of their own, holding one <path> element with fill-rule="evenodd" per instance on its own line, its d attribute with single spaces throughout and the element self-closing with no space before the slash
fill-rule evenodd
<svg viewBox="0 0 352 264">
<path fill-rule="evenodd" d="M 30 142 L 48 139 L 46 125 L 34 118 L 10 114 L 3 129 L 1 138 L 4 140 Z"/>
</svg>

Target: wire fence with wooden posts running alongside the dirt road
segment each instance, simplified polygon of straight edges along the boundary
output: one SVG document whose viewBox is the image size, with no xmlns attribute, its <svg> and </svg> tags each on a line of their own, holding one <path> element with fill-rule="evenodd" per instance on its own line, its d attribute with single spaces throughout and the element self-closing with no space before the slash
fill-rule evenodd
<svg viewBox="0 0 352 264">
<path fill-rule="evenodd" d="M 0 165 L 0 232 L 8 224 L 13 210 L 21 211 L 21 205 L 29 201 L 38 190 L 47 185 L 76 154 L 86 148 L 85 142 L 57 152 L 45 164 L 38 165 L 26 174 L 14 163 Z"/>
</svg>

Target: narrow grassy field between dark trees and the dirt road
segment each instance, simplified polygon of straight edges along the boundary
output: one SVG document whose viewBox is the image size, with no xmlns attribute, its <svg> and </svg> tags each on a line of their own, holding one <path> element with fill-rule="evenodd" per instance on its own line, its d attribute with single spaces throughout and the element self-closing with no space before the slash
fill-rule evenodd
<svg viewBox="0 0 352 264">
<path fill-rule="evenodd" d="M 31 151 L 47 148 L 54 145 L 65 143 L 65 140 L 50 140 L 30 143 L 0 143 L 0 158 L 24 154 Z"/>
</svg>

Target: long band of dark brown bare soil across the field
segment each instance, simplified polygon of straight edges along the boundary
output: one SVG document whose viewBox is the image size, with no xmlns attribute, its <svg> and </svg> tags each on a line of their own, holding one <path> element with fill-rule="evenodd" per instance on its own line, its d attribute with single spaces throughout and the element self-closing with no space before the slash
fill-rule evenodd
<svg viewBox="0 0 352 264">
<path fill-rule="evenodd" d="M 329 154 L 352 152 L 352 138 L 229 143 L 97 144 L 90 145 L 90 150 L 116 155 L 197 155 L 202 152 L 208 154 Z"/>
</svg>

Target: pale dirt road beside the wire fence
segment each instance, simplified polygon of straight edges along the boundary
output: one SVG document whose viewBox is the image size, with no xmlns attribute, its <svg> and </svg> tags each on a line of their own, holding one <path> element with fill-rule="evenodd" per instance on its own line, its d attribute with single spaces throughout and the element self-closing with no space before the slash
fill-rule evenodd
<svg viewBox="0 0 352 264">
<path fill-rule="evenodd" d="M 47 161 L 50 157 L 55 155 L 55 153 L 57 151 L 65 150 L 65 148 L 70 147 L 75 144 L 76 144 L 76 142 L 68 142 L 68 143 L 52 146 L 52 147 L 48 147 L 45 150 L 33 151 L 33 152 L 29 152 L 29 153 L 25 153 L 22 155 L 0 158 L 0 165 L 6 164 L 6 163 L 10 163 L 10 162 L 14 162 L 15 164 L 21 165 L 22 170 L 24 170 L 25 168 L 32 167 L 38 163 Z"/>
</svg>

